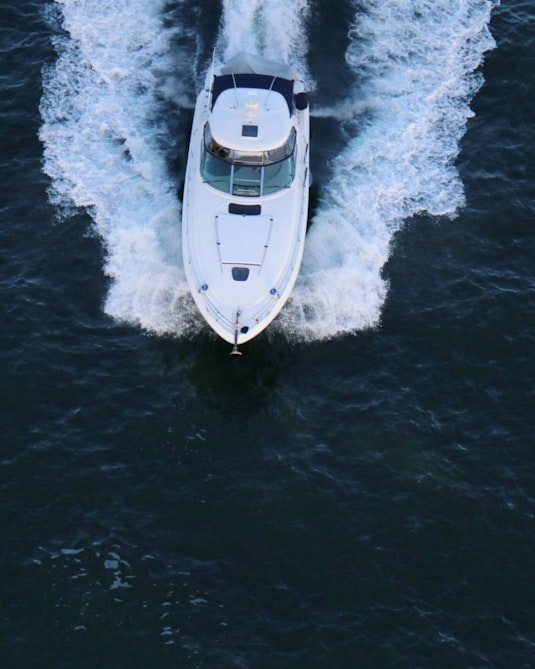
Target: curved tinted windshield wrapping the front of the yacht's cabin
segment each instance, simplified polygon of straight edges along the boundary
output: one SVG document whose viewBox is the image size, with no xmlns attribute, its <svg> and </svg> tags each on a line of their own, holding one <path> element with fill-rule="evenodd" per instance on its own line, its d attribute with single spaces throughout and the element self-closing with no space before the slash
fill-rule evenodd
<svg viewBox="0 0 535 669">
<path fill-rule="evenodd" d="M 236 151 L 218 144 L 208 123 L 204 128 L 201 161 L 203 179 L 214 188 L 246 197 L 258 197 L 288 188 L 295 175 L 295 129 L 288 140 L 271 151 Z"/>
</svg>

